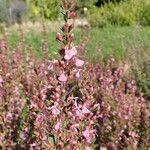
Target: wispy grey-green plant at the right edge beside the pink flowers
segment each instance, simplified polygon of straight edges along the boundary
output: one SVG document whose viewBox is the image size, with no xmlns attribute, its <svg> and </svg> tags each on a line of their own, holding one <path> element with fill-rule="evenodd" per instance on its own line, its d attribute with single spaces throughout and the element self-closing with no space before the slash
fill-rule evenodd
<svg viewBox="0 0 150 150">
<path fill-rule="evenodd" d="M 150 99 L 150 47 L 145 43 L 145 36 L 141 35 L 141 29 L 135 29 L 133 41 L 127 48 L 127 61 L 130 64 L 131 76 L 135 78 L 138 94 L 143 93 Z"/>
</svg>

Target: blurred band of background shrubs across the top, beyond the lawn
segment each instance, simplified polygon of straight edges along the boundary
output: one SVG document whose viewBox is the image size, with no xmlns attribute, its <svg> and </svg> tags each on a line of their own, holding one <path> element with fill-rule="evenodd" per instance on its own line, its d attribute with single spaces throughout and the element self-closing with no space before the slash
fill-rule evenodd
<svg viewBox="0 0 150 150">
<path fill-rule="evenodd" d="M 86 17 L 91 26 L 150 25 L 150 0 L 77 0 L 78 16 Z M 43 16 L 60 18 L 60 0 L 0 0 L 0 22 L 13 24 Z"/>
</svg>

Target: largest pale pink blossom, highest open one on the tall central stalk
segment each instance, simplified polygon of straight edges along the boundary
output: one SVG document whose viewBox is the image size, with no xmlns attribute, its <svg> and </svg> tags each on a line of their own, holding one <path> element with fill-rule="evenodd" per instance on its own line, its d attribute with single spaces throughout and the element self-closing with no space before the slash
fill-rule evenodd
<svg viewBox="0 0 150 150">
<path fill-rule="evenodd" d="M 72 47 L 71 49 L 66 49 L 64 58 L 66 60 L 70 60 L 73 56 L 77 54 L 77 50 L 75 47 Z"/>
</svg>

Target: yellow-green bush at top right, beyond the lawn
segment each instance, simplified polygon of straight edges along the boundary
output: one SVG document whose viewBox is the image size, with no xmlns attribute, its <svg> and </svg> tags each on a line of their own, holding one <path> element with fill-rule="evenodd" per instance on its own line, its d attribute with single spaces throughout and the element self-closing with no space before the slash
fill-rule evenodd
<svg viewBox="0 0 150 150">
<path fill-rule="evenodd" d="M 150 24 L 150 1 L 125 0 L 120 3 L 105 3 L 102 7 L 93 7 L 88 13 L 88 20 L 92 26 L 108 25 L 141 25 Z"/>
</svg>

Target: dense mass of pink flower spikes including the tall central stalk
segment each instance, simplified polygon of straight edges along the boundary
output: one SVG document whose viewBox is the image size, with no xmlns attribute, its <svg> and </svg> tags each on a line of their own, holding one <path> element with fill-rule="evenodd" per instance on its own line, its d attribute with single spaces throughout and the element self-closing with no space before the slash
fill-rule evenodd
<svg viewBox="0 0 150 150">
<path fill-rule="evenodd" d="M 37 60 L 23 36 L 12 51 L 7 35 L 1 39 L 0 149 L 148 149 L 149 102 L 112 57 L 105 69 L 82 59 L 86 38 L 73 45 L 73 6 L 63 1 L 59 59 L 49 60 L 43 47 Z"/>
</svg>

